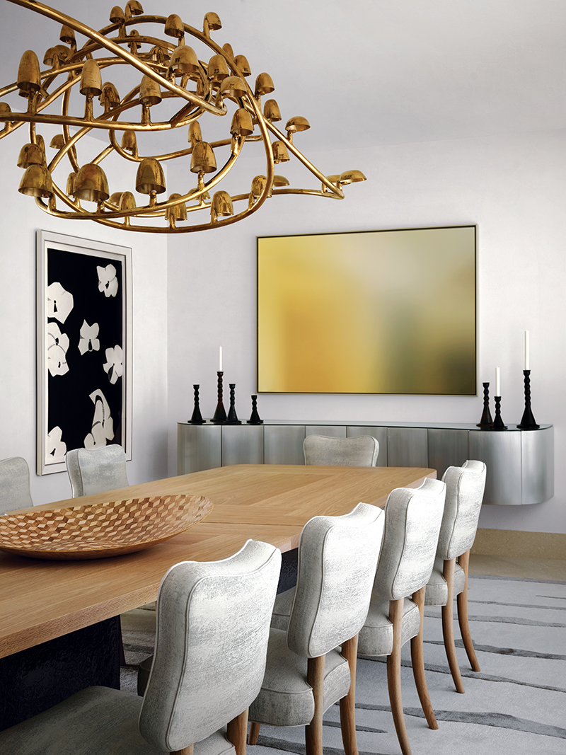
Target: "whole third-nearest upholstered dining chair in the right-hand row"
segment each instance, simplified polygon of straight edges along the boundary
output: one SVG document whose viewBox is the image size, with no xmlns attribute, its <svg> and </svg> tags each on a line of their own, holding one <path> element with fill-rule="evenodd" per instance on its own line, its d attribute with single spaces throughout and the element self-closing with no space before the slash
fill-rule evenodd
<svg viewBox="0 0 566 755">
<path fill-rule="evenodd" d="M 403 755 L 411 755 L 401 701 L 401 647 L 411 639 L 411 661 L 420 703 L 431 729 L 438 729 L 424 673 L 423 603 L 438 545 L 446 485 L 425 479 L 419 488 L 396 488 L 385 506 L 385 534 L 368 618 L 358 637 L 358 655 L 387 656 L 387 687 Z"/>
</svg>

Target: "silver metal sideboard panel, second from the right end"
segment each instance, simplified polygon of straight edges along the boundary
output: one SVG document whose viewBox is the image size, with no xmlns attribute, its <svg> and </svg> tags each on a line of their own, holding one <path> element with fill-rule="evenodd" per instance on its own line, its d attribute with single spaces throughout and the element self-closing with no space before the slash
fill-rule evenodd
<svg viewBox="0 0 566 755">
<path fill-rule="evenodd" d="M 488 467 L 484 504 L 522 504 L 521 436 L 506 430 L 478 430 L 469 433 L 469 458 Z"/>
</svg>

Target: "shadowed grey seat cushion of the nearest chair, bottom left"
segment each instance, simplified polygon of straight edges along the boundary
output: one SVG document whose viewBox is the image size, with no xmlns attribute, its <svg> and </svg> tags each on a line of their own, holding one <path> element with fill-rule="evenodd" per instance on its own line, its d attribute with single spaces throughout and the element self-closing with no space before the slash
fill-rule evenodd
<svg viewBox="0 0 566 755">
<path fill-rule="evenodd" d="M 88 687 L 37 716 L 0 732 L 0 752 L 13 755 L 165 755 L 140 734 L 142 698 Z M 190 743 L 187 743 L 190 744 Z M 195 744 L 195 755 L 235 755 L 223 732 Z"/>
</svg>

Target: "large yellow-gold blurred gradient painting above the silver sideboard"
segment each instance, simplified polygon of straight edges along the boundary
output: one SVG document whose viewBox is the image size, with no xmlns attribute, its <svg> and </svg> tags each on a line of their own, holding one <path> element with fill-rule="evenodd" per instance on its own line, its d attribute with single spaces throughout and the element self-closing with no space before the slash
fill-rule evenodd
<svg viewBox="0 0 566 755">
<path fill-rule="evenodd" d="M 475 396 L 475 226 L 258 238 L 257 390 Z"/>
</svg>

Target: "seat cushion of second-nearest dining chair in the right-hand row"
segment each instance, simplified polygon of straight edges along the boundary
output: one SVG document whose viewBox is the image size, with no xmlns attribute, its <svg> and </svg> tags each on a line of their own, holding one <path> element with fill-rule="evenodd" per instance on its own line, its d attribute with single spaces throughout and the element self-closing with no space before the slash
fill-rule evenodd
<svg viewBox="0 0 566 755">
<path fill-rule="evenodd" d="M 269 630 L 266 673 L 260 694 L 250 706 L 249 719 L 271 726 L 306 726 L 315 714 L 312 688 L 306 682 L 306 658 L 287 647 L 287 633 Z M 350 687 L 348 661 L 336 649 L 325 660 L 323 709 L 328 710 Z"/>
</svg>

